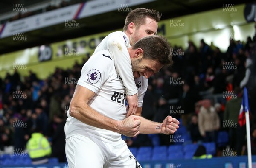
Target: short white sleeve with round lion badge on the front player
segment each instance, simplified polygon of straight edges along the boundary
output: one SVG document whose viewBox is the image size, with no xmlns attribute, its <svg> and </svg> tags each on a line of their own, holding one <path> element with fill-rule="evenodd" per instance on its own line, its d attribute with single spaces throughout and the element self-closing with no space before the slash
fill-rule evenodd
<svg viewBox="0 0 256 168">
<path fill-rule="evenodd" d="M 90 60 L 91 62 L 97 62 L 97 64 L 84 64 L 77 84 L 96 93 L 108 79 L 109 70 L 113 69 L 113 60 L 109 56 L 108 50 L 101 50 L 95 54 L 100 55 L 101 60 Z M 96 58 L 91 57 L 90 59 Z"/>
</svg>

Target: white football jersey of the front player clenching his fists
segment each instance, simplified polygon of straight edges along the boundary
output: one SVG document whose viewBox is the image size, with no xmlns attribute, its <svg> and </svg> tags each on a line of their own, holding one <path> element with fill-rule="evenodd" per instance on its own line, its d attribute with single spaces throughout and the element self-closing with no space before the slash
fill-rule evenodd
<svg viewBox="0 0 256 168">
<path fill-rule="evenodd" d="M 90 57 L 81 70 L 81 77 L 77 84 L 95 92 L 88 105 L 96 112 L 114 120 L 125 119 L 125 87 L 116 73 L 108 50 L 101 50 Z M 121 137 L 119 133 L 82 123 L 71 117 L 69 110 L 67 116 L 66 138 L 75 134 L 86 134 L 104 141 L 114 142 Z"/>
</svg>

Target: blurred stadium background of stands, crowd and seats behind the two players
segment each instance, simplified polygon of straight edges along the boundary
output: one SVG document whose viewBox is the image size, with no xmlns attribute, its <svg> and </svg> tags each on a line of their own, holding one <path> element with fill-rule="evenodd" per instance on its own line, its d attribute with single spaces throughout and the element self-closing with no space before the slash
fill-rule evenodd
<svg viewBox="0 0 256 168">
<path fill-rule="evenodd" d="M 122 137 L 143 168 L 247 167 L 239 124 L 245 86 L 256 166 L 255 1 L 3 0 L 0 167 L 33 167 L 27 144 L 35 132 L 51 148 L 44 167 L 68 166 L 64 124 L 81 68 L 135 8 L 162 13 L 157 34 L 168 39 L 174 60 L 149 79 L 142 116 L 180 121 L 173 135 Z"/>
</svg>

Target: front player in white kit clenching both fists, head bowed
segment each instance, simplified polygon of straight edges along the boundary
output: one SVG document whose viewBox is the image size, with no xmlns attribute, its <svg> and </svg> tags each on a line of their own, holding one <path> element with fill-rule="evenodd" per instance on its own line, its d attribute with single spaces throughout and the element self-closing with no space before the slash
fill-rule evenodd
<svg viewBox="0 0 256 168">
<path fill-rule="evenodd" d="M 150 77 L 172 64 L 170 46 L 161 36 L 140 39 L 128 53 L 134 78 Z M 101 60 L 101 61 L 99 61 Z M 141 168 L 121 134 L 173 134 L 179 122 L 167 116 L 156 123 L 140 116 L 126 117 L 125 87 L 108 50 L 101 50 L 81 70 L 65 124 L 66 156 L 75 168 Z"/>
</svg>

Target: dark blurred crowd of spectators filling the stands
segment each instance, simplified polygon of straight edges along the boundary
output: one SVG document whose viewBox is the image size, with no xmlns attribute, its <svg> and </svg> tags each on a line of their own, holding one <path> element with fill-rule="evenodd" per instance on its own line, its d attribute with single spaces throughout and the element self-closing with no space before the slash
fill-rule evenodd
<svg viewBox="0 0 256 168">
<path fill-rule="evenodd" d="M 227 131 L 230 140 L 227 145 L 238 151 L 238 155 L 243 154 L 241 147 L 245 145 L 245 127 L 238 124 L 241 90 L 247 84 L 253 115 L 255 105 L 252 102 L 255 102 L 253 94 L 256 86 L 250 84 L 250 80 L 242 85 L 241 81 L 248 69 L 251 70 L 251 75 L 255 72 L 253 65 L 256 41 L 248 38 L 243 45 L 240 41 L 230 40 L 226 53 L 222 53 L 218 47 L 207 45 L 204 40 L 201 40 L 200 48 L 196 48 L 191 41 L 186 49 L 177 46 L 174 48 L 180 55 L 174 54 L 173 66 L 163 67 L 159 73 L 149 78 L 142 116 L 157 122 L 162 122 L 167 115 L 179 119 L 180 130 L 183 127 L 189 132 L 191 143 L 216 142 L 218 132 Z M 66 112 L 85 62 L 85 59 L 82 64 L 76 62 L 72 69 L 56 67 L 55 72 L 43 80 L 39 80 L 31 70 L 29 76 L 20 76 L 15 71 L 0 78 L 1 151 L 6 146 L 25 148 L 32 132 L 40 129 L 52 145 L 52 157 L 65 162 Z M 236 69 L 223 68 L 223 62 L 234 62 Z M 249 62 L 254 64 L 248 66 Z M 179 81 L 179 84 L 170 83 L 173 80 Z M 226 90 L 234 91 L 236 98 L 223 98 Z M 205 98 L 218 94 L 221 94 L 218 99 Z M 172 112 L 175 108 L 179 111 Z M 236 127 L 223 127 L 226 120 L 232 120 L 237 124 Z M 14 123 L 23 125 L 16 126 Z M 254 117 L 251 118 L 251 123 L 254 128 Z M 252 131 L 255 152 L 256 132 L 255 129 Z M 169 135 L 157 136 L 160 139 L 159 145 L 172 145 Z M 124 139 L 128 146 L 154 145 L 148 135 L 144 134 Z"/>
</svg>

